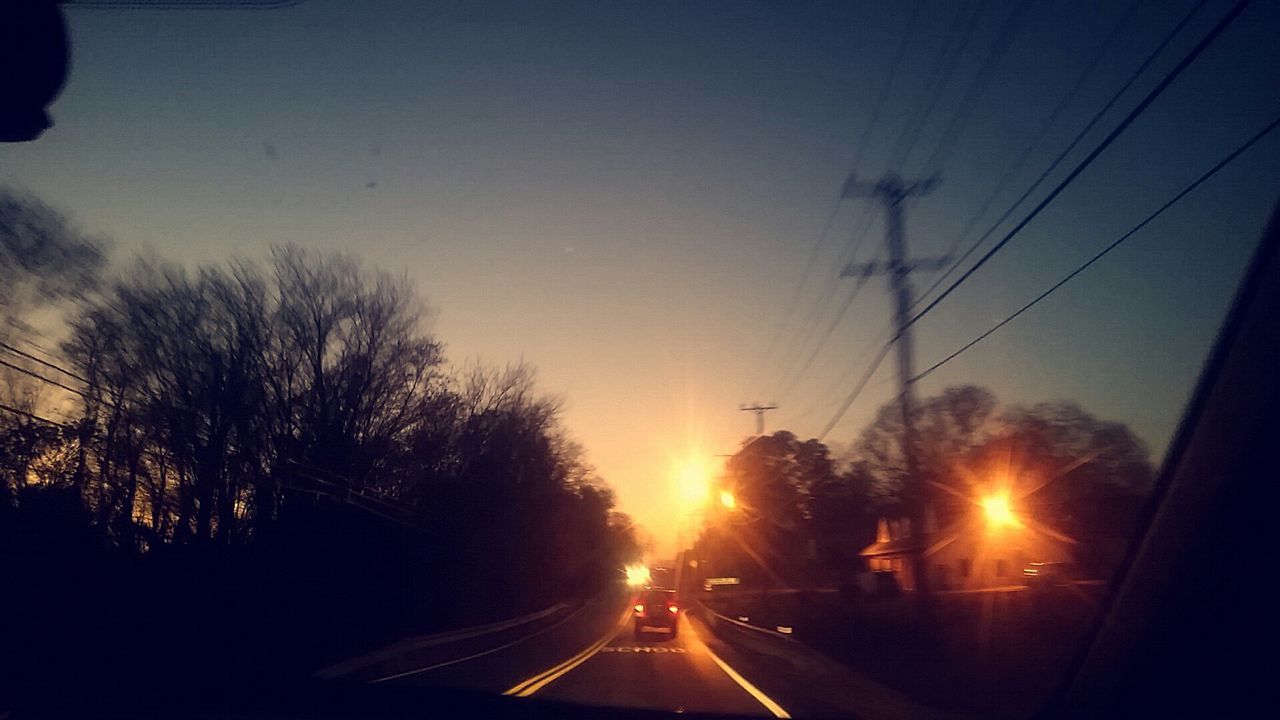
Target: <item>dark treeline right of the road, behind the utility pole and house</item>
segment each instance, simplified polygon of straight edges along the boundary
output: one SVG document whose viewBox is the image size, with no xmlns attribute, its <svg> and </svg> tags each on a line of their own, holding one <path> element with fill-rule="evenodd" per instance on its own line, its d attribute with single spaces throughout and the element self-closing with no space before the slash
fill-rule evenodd
<svg viewBox="0 0 1280 720">
<path fill-rule="evenodd" d="M 914 423 L 938 527 L 973 514 L 1002 484 L 1019 512 L 1074 541 L 1084 571 L 1115 570 L 1155 479 L 1147 447 L 1128 427 L 1073 402 L 1001 407 L 974 386 L 923 398 Z M 877 521 L 909 514 L 906 477 L 897 402 L 881 407 L 838 457 L 786 430 L 751 438 L 722 479 L 735 507 L 714 509 L 699 557 L 712 573 L 774 587 L 847 580 Z"/>
</svg>

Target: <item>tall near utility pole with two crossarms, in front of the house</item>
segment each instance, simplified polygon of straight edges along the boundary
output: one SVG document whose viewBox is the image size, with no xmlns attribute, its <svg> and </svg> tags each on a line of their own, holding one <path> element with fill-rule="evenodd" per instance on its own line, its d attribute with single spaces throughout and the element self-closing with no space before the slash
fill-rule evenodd
<svg viewBox="0 0 1280 720">
<path fill-rule="evenodd" d="M 893 325 L 897 328 L 897 378 L 899 402 L 902 406 L 902 459 L 906 462 L 906 500 L 908 511 L 911 520 L 911 575 L 915 582 L 916 606 L 922 620 L 928 620 L 932 614 L 929 577 L 924 566 L 924 516 L 928 505 L 928 488 L 924 478 L 920 477 L 919 461 L 915 456 L 915 389 L 911 378 L 915 377 L 913 359 L 911 328 L 906 324 L 911 316 L 911 305 L 915 302 L 911 296 L 913 270 L 937 270 L 951 261 L 950 258 L 932 260 L 908 260 L 906 236 L 902 222 L 902 204 L 909 197 L 928 195 L 938 186 L 938 178 L 931 177 L 919 181 L 904 182 L 896 174 L 886 174 L 876 182 L 861 182 L 855 176 L 849 176 L 840 196 L 867 197 L 879 202 L 884 208 L 884 245 L 888 250 L 888 263 L 859 263 L 850 264 L 840 274 L 841 277 L 867 277 L 872 274 L 887 274 L 890 288 L 893 292 Z"/>
</svg>

